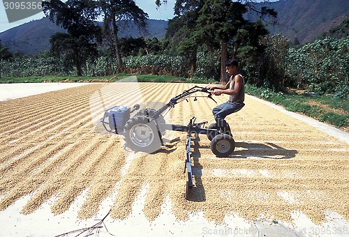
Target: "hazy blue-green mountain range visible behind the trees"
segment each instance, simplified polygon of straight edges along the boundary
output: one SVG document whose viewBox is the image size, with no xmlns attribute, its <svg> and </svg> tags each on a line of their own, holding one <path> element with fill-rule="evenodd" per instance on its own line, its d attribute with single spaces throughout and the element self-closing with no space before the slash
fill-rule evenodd
<svg viewBox="0 0 349 237">
<path fill-rule="evenodd" d="M 297 40 L 302 45 L 338 26 L 343 20 L 349 19 L 348 0 L 280 0 L 271 3 L 256 3 L 257 8 L 269 6 L 278 13 L 278 25 L 269 25 L 271 33 L 282 33 L 290 40 Z M 248 15 L 251 20 L 255 15 Z M 124 29 L 120 37 L 165 37 L 168 21 L 148 20 L 147 32 L 140 32 L 138 27 L 120 27 Z M 122 22 L 121 22 L 122 24 Z M 0 33 L 2 44 L 11 52 L 35 54 L 50 49 L 50 36 L 61 27 L 47 18 L 22 24 Z"/>
</svg>

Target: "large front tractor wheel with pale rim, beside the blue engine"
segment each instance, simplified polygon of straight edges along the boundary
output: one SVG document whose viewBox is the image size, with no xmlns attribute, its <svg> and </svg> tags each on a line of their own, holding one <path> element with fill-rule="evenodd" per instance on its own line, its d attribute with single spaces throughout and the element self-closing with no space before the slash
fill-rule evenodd
<svg viewBox="0 0 349 237">
<path fill-rule="evenodd" d="M 161 135 L 156 123 L 147 116 L 134 116 L 125 125 L 125 141 L 133 151 L 153 153 L 161 148 Z"/>
</svg>

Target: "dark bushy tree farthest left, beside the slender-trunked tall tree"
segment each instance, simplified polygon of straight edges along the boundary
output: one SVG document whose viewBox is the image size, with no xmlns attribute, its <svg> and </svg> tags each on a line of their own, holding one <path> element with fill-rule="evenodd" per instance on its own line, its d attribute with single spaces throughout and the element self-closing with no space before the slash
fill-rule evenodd
<svg viewBox="0 0 349 237">
<path fill-rule="evenodd" d="M 68 33 L 55 33 L 50 40 L 51 51 L 61 57 L 67 68 L 74 65 L 76 74 L 82 75 L 82 65 L 98 54 L 97 42 L 101 28 L 94 25 L 98 17 L 95 5 L 88 0 L 59 0 L 43 2 L 44 13 L 52 22 L 63 26 Z"/>
</svg>

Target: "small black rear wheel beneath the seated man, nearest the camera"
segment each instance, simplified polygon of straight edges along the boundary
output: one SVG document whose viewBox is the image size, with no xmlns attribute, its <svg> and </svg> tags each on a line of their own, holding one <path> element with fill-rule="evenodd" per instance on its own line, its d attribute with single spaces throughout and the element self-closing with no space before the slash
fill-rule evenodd
<svg viewBox="0 0 349 237">
<path fill-rule="evenodd" d="M 230 135 L 219 134 L 211 141 L 211 151 L 217 157 L 228 157 L 235 150 L 235 141 Z"/>
</svg>

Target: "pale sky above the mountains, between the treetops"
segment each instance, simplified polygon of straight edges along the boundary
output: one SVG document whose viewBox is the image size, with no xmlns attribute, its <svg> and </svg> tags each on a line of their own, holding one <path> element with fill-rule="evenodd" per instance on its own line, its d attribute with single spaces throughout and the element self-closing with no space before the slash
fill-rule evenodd
<svg viewBox="0 0 349 237">
<path fill-rule="evenodd" d="M 166 5 L 161 6 L 156 9 L 155 0 L 135 0 L 135 3 L 144 10 L 145 13 L 148 13 L 149 19 L 158 19 L 158 20 L 168 20 L 173 18 L 173 8 L 174 2 L 176 0 L 168 0 Z M 261 0 L 257 0 L 261 1 Z M 275 1 L 275 0 L 274 0 Z M 13 23 L 8 23 L 5 7 L 3 6 L 3 1 L 0 3 L 0 32 L 6 31 L 10 28 L 30 22 L 31 20 L 39 20 L 44 17 L 43 13 L 38 13 L 32 17 L 25 18 Z"/>
</svg>

